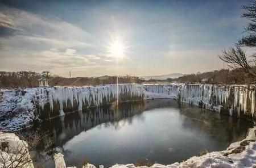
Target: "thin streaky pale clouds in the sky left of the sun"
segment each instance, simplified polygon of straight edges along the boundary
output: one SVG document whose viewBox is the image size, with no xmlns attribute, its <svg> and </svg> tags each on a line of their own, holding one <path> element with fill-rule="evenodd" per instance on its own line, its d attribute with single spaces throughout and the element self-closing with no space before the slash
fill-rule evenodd
<svg viewBox="0 0 256 168">
<path fill-rule="evenodd" d="M 93 45 L 89 33 L 59 18 L 0 7 L 0 66 L 13 70 L 85 69 L 101 64 L 101 57 L 77 51 Z M 6 61 L 5 61 L 6 60 Z M 20 60 L 22 64 L 16 64 Z M 97 62 L 95 62 L 97 61 Z M 8 62 L 9 66 L 6 66 Z M 10 68 L 11 67 L 11 68 Z"/>
</svg>

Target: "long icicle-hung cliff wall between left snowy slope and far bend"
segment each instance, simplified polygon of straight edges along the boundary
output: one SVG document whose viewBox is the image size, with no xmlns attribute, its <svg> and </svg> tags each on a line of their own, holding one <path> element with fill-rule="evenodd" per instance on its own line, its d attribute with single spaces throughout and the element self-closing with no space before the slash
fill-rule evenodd
<svg viewBox="0 0 256 168">
<path fill-rule="evenodd" d="M 119 84 L 84 87 L 52 87 L 40 89 L 38 110 L 42 118 L 65 115 L 88 107 L 126 101 L 143 100 L 143 86 Z M 45 96 L 47 95 L 47 96 Z"/>
</svg>

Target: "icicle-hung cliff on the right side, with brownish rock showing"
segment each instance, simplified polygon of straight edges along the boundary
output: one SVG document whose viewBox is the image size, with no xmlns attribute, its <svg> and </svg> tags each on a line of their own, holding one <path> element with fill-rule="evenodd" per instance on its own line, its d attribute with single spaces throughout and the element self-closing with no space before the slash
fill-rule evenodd
<svg viewBox="0 0 256 168">
<path fill-rule="evenodd" d="M 146 85 L 146 91 L 170 95 L 181 103 L 194 104 L 238 117 L 255 118 L 255 86 L 181 84 Z"/>
</svg>

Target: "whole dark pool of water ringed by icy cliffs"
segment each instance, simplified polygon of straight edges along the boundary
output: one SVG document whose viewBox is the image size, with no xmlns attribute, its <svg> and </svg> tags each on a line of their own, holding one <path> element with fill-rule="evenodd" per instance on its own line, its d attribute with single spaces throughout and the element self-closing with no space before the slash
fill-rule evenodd
<svg viewBox="0 0 256 168">
<path fill-rule="evenodd" d="M 245 138 L 252 126 L 247 120 L 158 99 L 75 112 L 44 121 L 39 129 L 52 133 L 67 166 L 89 159 L 108 167 L 141 158 L 170 164 L 205 149 L 224 150 Z M 51 160 L 44 166 L 54 167 Z"/>
</svg>

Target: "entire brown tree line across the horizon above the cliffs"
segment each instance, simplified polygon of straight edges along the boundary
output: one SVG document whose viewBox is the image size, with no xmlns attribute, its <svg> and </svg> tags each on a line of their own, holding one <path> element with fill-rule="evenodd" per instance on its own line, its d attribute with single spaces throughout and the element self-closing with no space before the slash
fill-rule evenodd
<svg viewBox="0 0 256 168">
<path fill-rule="evenodd" d="M 117 83 L 117 77 L 105 75 L 103 77 L 76 77 L 65 78 L 59 75 L 51 75 L 49 72 L 37 73 L 31 71 L 0 72 L 0 88 L 38 87 L 38 79 L 48 78 L 49 86 L 86 86 L 108 85 Z M 244 75 L 243 70 L 220 69 L 211 72 L 185 74 L 179 78 L 167 78 L 165 80 L 150 79 L 125 75 L 118 77 L 118 83 L 210 83 L 210 84 L 256 84 L 254 78 Z"/>
</svg>

